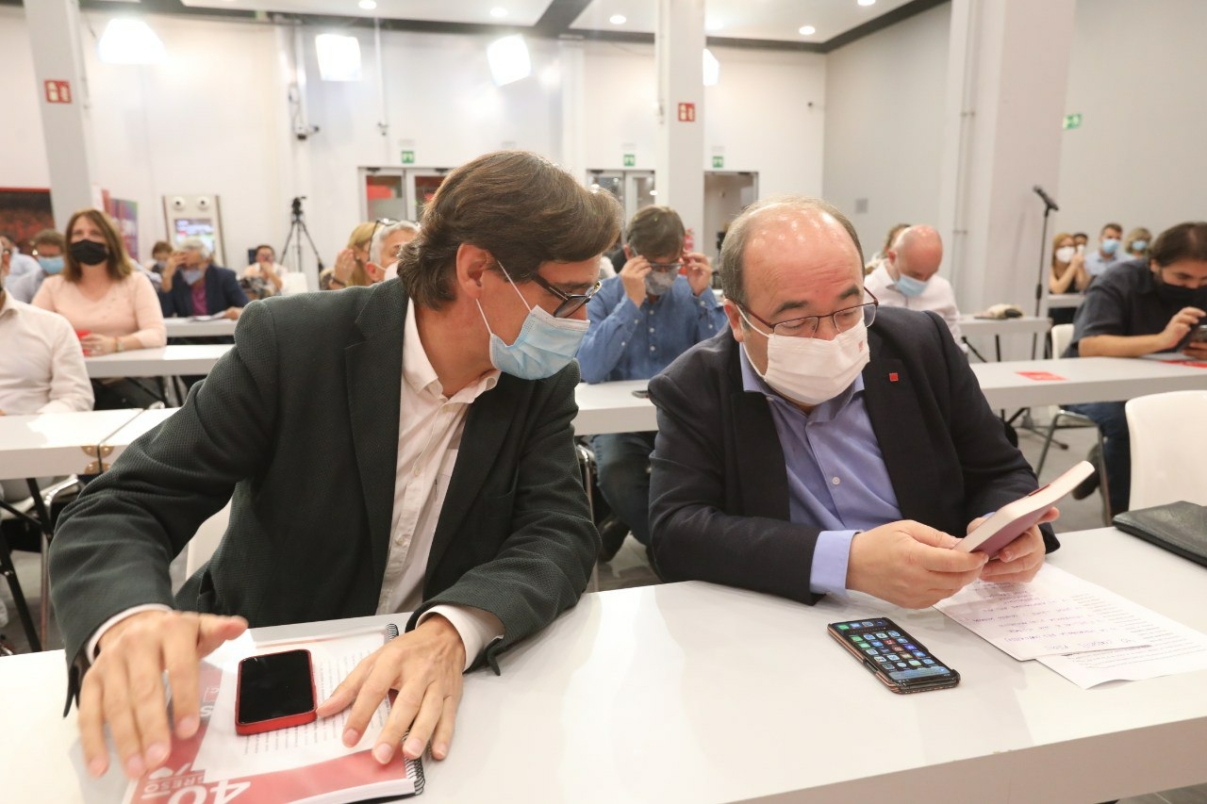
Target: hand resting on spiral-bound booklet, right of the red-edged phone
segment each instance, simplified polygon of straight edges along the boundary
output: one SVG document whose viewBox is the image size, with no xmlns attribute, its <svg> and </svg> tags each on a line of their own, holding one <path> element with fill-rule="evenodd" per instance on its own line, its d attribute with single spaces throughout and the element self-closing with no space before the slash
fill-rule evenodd
<svg viewBox="0 0 1207 804">
<path fill-rule="evenodd" d="M 374 758 L 381 764 L 390 762 L 402 736 L 410 732 L 403 756 L 418 758 L 431 741 L 432 757 L 443 759 L 453 741 L 463 669 L 461 635 L 437 614 L 366 657 L 319 706 L 319 717 L 331 717 L 351 705 L 344 745 L 354 746 L 378 705 L 397 689 L 390 719 L 373 747 Z"/>
</svg>

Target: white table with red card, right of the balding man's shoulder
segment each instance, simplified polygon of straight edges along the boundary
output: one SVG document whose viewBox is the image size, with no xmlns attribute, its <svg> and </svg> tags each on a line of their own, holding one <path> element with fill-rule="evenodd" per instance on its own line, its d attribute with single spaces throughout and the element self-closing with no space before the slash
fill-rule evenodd
<svg viewBox="0 0 1207 804">
<path fill-rule="evenodd" d="M 973 373 L 990 407 L 1118 402 L 1148 394 L 1207 389 L 1207 368 L 1129 357 L 1062 357 L 976 363 Z M 1020 372 L 1048 372 L 1063 380 L 1037 380 Z"/>
</svg>

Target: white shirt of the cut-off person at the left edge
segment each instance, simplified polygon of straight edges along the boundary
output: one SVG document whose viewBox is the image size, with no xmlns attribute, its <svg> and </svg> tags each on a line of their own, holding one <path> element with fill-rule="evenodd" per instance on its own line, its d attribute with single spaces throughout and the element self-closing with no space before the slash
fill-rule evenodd
<svg viewBox="0 0 1207 804">
<path fill-rule="evenodd" d="M 92 410 L 83 350 L 62 315 L 4 293 L 0 304 L 0 410 L 7 415 Z"/>
</svg>

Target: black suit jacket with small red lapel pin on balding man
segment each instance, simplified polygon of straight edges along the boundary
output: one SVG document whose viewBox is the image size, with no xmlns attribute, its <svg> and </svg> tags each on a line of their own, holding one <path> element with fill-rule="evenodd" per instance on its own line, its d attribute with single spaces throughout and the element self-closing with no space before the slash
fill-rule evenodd
<svg viewBox="0 0 1207 804">
<path fill-rule="evenodd" d="M 868 346 L 864 404 L 904 519 L 963 536 L 976 517 L 1036 489 L 941 317 L 880 308 Z M 663 576 L 816 601 L 818 531 L 788 522 L 775 421 L 763 394 L 742 390 L 733 333 L 684 353 L 649 396 L 651 537 Z M 1059 546 L 1046 525 L 1044 541 Z"/>
</svg>

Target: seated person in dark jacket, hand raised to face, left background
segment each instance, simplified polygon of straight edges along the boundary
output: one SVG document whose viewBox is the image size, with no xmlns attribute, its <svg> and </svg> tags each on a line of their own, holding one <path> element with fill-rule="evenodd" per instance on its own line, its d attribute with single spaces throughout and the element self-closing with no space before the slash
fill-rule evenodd
<svg viewBox="0 0 1207 804">
<path fill-rule="evenodd" d="M 164 317 L 217 315 L 238 319 L 247 296 L 229 268 L 211 264 L 210 249 L 200 238 L 186 238 L 163 268 L 159 303 Z"/>
</svg>

